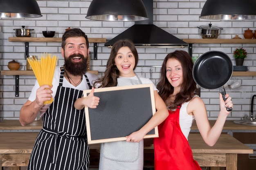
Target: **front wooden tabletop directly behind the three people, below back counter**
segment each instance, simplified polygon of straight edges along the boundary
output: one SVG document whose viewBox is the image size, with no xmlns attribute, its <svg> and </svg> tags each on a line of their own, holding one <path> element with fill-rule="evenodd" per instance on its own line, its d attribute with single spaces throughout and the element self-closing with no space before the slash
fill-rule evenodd
<svg viewBox="0 0 256 170">
<path fill-rule="evenodd" d="M 0 132 L 0 154 L 31 153 L 38 132 Z M 195 153 L 253 153 L 253 149 L 244 145 L 231 135 L 221 134 L 214 146 L 207 146 L 200 134 L 190 134 L 189 144 Z M 90 149 L 99 149 L 100 144 L 90 145 Z M 153 146 L 145 147 L 153 149 Z"/>
</svg>

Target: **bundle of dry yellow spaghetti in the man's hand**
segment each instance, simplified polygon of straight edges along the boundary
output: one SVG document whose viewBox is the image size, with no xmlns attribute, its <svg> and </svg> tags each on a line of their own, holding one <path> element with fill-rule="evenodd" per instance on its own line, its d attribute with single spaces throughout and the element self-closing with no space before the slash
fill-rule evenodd
<svg viewBox="0 0 256 170">
<path fill-rule="evenodd" d="M 56 68 L 58 58 L 56 55 L 48 54 L 48 53 L 42 53 L 40 60 L 30 59 L 27 58 L 27 61 L 29 62 L 36 79 L 38 81 L 39 86 L 42 86 L 44 84 L 48 84 L 49 86 L 52 86 L 52 80 Z M 51 104 L 53 102 L 53 99 L 49 101 L 45 101 L 44 104 Z"/>
</svg>

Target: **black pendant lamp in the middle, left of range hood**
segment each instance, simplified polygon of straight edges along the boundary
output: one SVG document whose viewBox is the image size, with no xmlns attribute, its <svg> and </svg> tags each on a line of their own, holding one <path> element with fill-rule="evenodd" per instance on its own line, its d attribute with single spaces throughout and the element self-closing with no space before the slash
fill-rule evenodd
<svg viewBox="0 0 256 170">
<path fill-rule="evenodd" d="M 92 0 L 85 17 L 101 21 L 140 21 L 148 19 L 141 0 Z"/>
</svg>

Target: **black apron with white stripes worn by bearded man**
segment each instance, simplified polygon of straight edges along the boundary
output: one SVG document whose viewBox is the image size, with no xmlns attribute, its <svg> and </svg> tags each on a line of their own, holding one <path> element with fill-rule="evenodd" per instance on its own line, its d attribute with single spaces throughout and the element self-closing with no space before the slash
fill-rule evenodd
<svg viewBox="0 0 256 170">
<path fill-rule="evenodd" d="M 83 91 L 63 87 L 64 70 L 51 106 L 43 115 L 43 129 L 36 138 L 28 170 L 88 170 L 84 110 L 76 110 L 74 102 Z M 85 75 L 90 86 L 90 81 Z M 85 85 L 87 86 L 87 85 Z"/>
</svg>

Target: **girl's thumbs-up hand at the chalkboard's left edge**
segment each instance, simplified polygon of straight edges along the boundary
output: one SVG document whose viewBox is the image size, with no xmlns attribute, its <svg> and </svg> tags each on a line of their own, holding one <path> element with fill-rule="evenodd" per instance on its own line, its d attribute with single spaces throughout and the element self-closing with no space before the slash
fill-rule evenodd
<svg viewBox="0 0 256 170">
<path fill-rule="evenodd" d="M 78 110 L 83 109 L 84 106 L 87 106 L 88 108 L 97 108 L 97 106 L 99 105 L 99 97 L 94 96 L 93 93 L 94 88 L 92 88 L 92 91 L 88 96 L 76 99 L 76 102 L 74 104 L 75 108 Z"/>
</svg>

